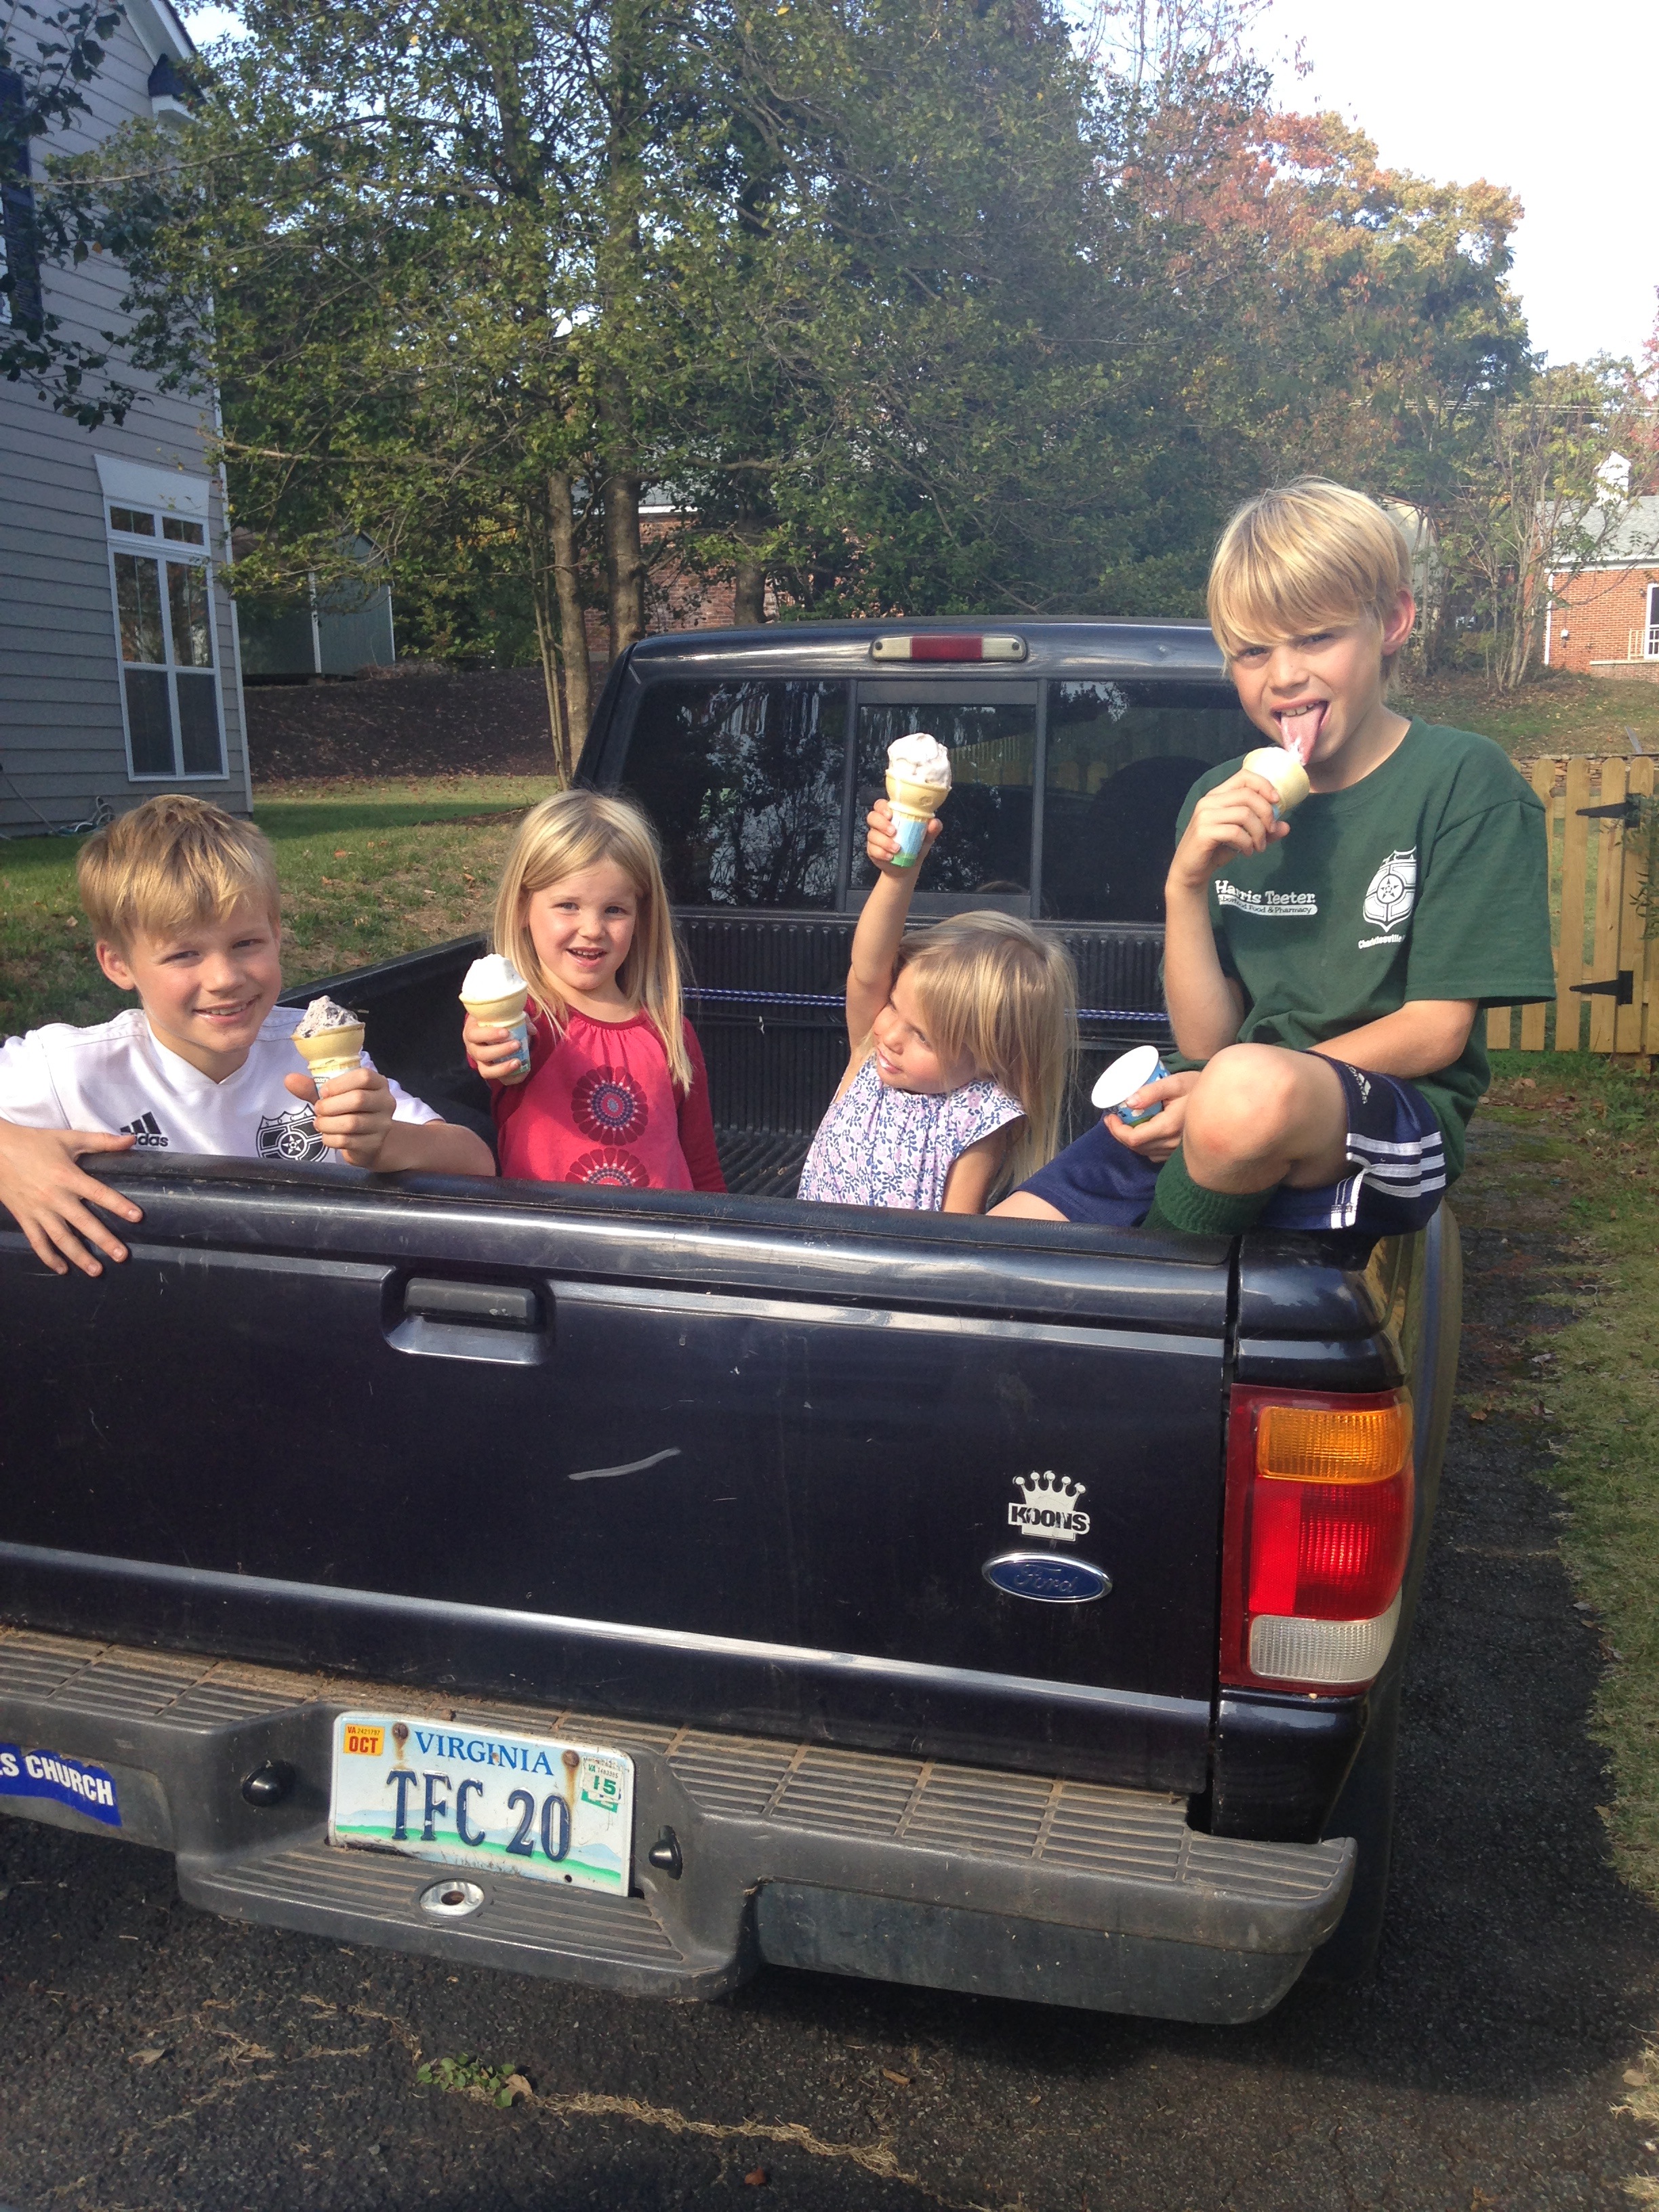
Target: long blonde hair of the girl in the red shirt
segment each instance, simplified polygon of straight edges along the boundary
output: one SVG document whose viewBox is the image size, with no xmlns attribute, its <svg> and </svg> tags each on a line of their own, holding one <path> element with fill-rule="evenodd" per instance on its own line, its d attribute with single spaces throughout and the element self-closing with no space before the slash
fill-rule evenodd
<svg viewBox="0 0 1659 2212">
<path fill-rule="evenodd" d="M 533 805 L 507 854 L 507 869 L 495 891 L 491 947 L 513 962 L 531 987 L 535 1004 L 564 1029 L 571 1009 L 535 956 L 526 909 L 535 891 L 544 891 L 549 883 L 580 876 L 584 867 L 597 867 L 602 860 L 613 860 L 622 869 L 639 900 L 633 945 L 617 969 L 617 989 L 644 1006 L 668 1055 L 668 1073 L 686 1093 L 692 1073 L 675 918 L 668 911 L 657 836 L 639 807 L 602 792 L 555 792 Z"/>
</svg>

